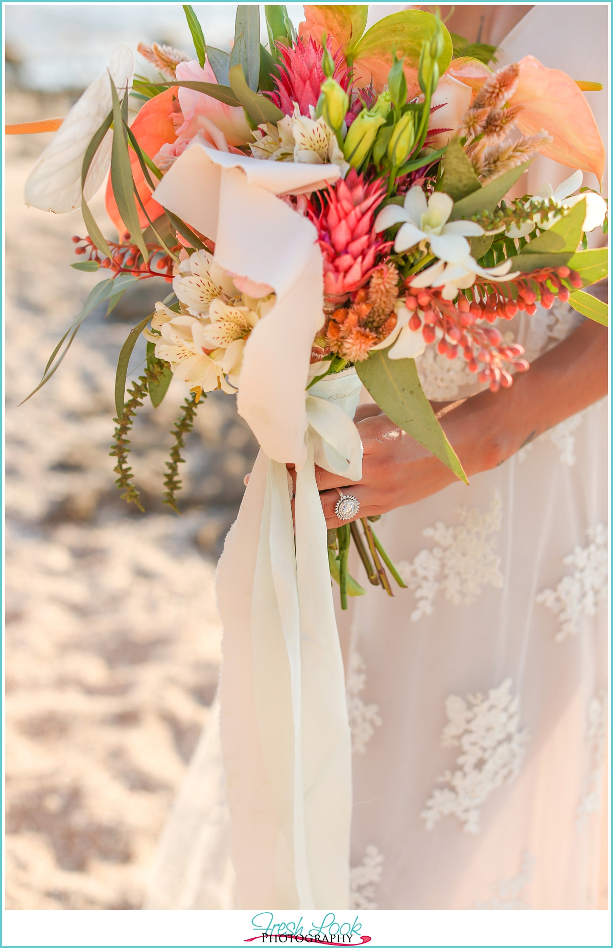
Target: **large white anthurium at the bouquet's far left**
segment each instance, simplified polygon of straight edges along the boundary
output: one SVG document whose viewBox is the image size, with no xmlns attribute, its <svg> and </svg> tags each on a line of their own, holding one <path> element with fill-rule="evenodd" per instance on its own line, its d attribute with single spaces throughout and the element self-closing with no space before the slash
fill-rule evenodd
<svg viewBox="0 0 613 948">
<path fill-rule="evenodd" d="M 135 58 L 132 49 L 117 43 L 108 69 L 85 89 L 63 119 L 51 144 L 45 148 L 26 182 L 26 204 L 31 208 L 67 214 L 81 208 L 81 169 L 87 147 L 113 108 L 111 79 L 117 94 L 132 88 Z M 109 78 L 110 75 L 110 78 Z M 111 164 L 113 132 L 109 129 L 94 155 L 85 181 L 89 201 L 102 185 Z"/>
</svg>

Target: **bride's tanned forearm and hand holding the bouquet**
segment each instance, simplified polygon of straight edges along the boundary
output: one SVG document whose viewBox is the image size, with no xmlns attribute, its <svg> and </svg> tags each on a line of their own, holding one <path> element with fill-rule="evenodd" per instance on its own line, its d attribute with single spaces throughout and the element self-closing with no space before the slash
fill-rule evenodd
<svg viewBox="0 0 613 948">
<path fill-rule="evenodd" d="M 571 336 L 535 359 L 529 372 L 515 374 L 510 389 L 433 407 L 470 478 L 501 465 L 548 428 L 603 398 L 606 390 L 607 332 L 586 319 Z M 371 414 L 357 424 L 364 444 L 363 477 L 351 485 L 351 493 L 360 501 L 360 516 L 421 501 L 456 481 L 441 461 L 386 415 Z M 328 526 L 338 526 L 334 514 L 338 492 L 330 488 L 350 485 L 320 468 L 316 475 Z"/>
</svg>

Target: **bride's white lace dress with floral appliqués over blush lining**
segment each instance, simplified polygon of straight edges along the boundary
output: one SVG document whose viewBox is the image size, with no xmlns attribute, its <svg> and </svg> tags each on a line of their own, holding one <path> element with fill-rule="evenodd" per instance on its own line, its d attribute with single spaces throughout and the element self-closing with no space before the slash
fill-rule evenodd
<svg viewBox="0 0 613 948">
<path fill-rule="evenodd" d="M 565 18 L 586 27 L 589 11 L 557 9 L 548 58 L 538 48 L 549 42 L 551 21 L 539 21 L 548 8 L 515 27 L 503 64 L 530 51 L 565 68 L 551 62 L 578 35 Z M 590 55 L 598 61 L 598 50 Z M 599 80 L 584 60 L 577 78 Z M 564 176 L 558 166 L 553 183 Z M 547 179 L 531 177 L 533 189 Z M 500 328 L 533 360 L 580 319 L 556 303 Z M 463 360 L 433 346 L 419 371 L 433 400 L 477 391 Z M 469 487 L 453 484 L 379 522 L 408 589 L 391 599 L 370 588 L 339 612 L 353 907 L 602 907 L 607 439 L 604 400 Z M 352 570 L 367 585 L 359 561 Z M 162 839 L 147 907 L 235 907 L 215 716 Z"/>
</svg>

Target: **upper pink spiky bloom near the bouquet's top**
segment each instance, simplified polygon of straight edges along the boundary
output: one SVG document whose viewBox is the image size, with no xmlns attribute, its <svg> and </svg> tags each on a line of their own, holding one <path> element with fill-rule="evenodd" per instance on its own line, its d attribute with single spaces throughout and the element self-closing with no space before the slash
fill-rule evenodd
<svg viewBox="0 0 613 948">
<path fill-rule="evenodd" d="M 294 46 L 278 43 L 277 48 L 283 58 L 283 63 L 279 64 L 279 79 L 274 77 L 277 92 L 267 95 L 286 116 L 294 114 L 294 102 L 297 102 L 300 115 L 309 118 L 309 105 L 315 108 L 321 83 L 326 78 L 321 68 L 321 47 L 310 38 L 306 44 L 297 39 Z M 334 79 L 347 92 L 352 70 L 344 63 L 342 50 L 339 49 L 334 56 Z"/>
</svg>

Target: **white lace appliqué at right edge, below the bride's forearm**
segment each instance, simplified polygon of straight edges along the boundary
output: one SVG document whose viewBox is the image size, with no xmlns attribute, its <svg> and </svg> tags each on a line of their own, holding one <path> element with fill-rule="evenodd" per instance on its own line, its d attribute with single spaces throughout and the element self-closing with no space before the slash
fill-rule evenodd
<svg viewBox="0 0 613 948">
<path fill-rule="evenodd" d="M 556 642 L 563 642 L 568 635 L 576 635 L 582 616 L 596 615 L 598 606 L 606 596 L 607 541 L 606 528 L 602 523 L 586 530 L 587 546 L 576 546 L 565 556 L 565 566 L 574 566 L 572 574 L 560 580 L 554 590 L 544 590 L 536 596 L 557 615 L 561 622 Z"/>
</svg>

